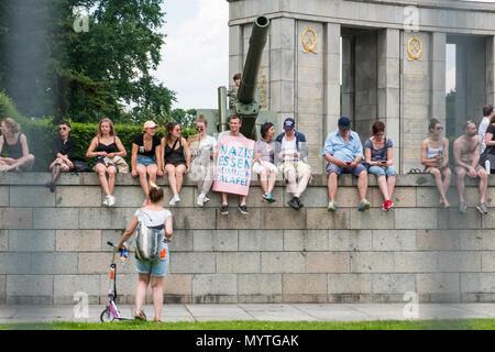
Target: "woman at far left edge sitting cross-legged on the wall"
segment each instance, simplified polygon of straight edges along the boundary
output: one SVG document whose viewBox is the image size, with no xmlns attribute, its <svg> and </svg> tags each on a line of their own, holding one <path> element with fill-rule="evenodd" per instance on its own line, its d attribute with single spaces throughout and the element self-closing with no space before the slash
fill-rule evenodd
<svg viewBox="0 0 495 352">
<path fill-rule="evenodd" d="M 0 157 L 0 173 L 10 170 L 30 170 L 34 165 L 34 155 L 30 154 L 28 140 L 22 134 L 21 127 L 11 118 L 6 118 L 0 124 L 0 154 L 3 147 L 8 157 Z"/>
</svg>

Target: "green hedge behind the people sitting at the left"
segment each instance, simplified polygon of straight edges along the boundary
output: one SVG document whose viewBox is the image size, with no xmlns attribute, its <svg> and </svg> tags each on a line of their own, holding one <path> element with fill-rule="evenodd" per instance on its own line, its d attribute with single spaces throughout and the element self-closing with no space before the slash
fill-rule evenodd
<svg viewBox="0 0 495 352">
<path fill-rule="evenodd" d="M 52 160 L 52 141 L 57 133 L 58 125 L 52 124 L 52 119 L 28 119 L 23 117 L 13 105 L 12 100 L 0 91 L 0 120 L 12 118 L 21 125 L 21 132 L 28 139 L 30 153 L 36 161 L 33 170 L 46 172 Z M 70 120 L 68 120 L 70 122 Z M 74 154 L 85 157 L 91 140 L 97 135 L 97 123 L 70 122 L 70 135 L 76 140 L 76 148 Z M 142 125 L 135 124 L 116 124 L 116 133 L 122 141 L 128 151 L 127 162 L 131 165 L 132 141 L 134 135 L 142 132 Z M 195 134 L 195 129 L 183 128 L 182 134 L 185 139 Z M 164 135 L 163 127 L 160 127 L 156 133 L 160 138 Z M 3 151 L 2 151 L 3 154 Z M 87 158 L 88 164 L 92 167 L 96 158 Z"/>
</svg>

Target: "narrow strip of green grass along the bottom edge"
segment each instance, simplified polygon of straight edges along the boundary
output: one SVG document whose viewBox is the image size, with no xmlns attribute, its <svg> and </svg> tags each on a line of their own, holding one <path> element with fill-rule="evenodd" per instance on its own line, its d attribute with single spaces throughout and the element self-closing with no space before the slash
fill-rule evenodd
<svg viewBox="0 0 495 352">
<path fill-rule="evenodd" d="M 151 321 L 0 323 L 0 330 L 495 330 L 495 319 L 419 321 Z"/>
</svg>

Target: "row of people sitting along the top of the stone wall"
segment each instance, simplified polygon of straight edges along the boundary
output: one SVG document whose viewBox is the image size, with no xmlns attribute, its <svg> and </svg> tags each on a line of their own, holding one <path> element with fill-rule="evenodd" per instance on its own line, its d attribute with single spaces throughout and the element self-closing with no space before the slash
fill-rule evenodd
<svg viewBox="0 0 495 352">
<path fill-rule="evenodd" d="M 490 169 L 483 166 L 485 161 L 495 165 L 495 113 L 493 106 L 483 109 L 484 118 L 479 130 L 473 121 L 466 121 L 464 133 L 453 144 L 457 186 L 459 193 L 459 210 L 466 212 L 464 198 L 464 178 L 480 178 L 480 201 L 476 209 L 487 213 L 485 197 L 487 190 L 487 174 Z M 165 136 L 156 135 L 158 125 L 146 121 L 142 133 L 134 136 L 131 155 L 131 175 L 138 177 L 143 189 L 144 202 L 150 202 L 150 184 L 156 183 L 157 176 L 167 174 L 172 190 L 169 205 L 180 201 L 180 189 L 185 175 L 197 183 L 197 205 L 208 202 L 208 193 L 213 183 L 215 158 L 221 147 L 224 136 L 244 139 L 240 130 L 242 119 L 239 116 L 229 118 L 229 130 L 220 133 L 218 139 L 207 134 L 208 121 L 199 116 L 196 121 L 197 134 L 186 141 L 182 136 L 180 124 L 168 122 L 164 125 Z M 308 148 L 306 136 L 296 130 L 296 121 L 287 118 L 283 125 L 284 132 L 275 136 L 275 127 L 266 122 L 261 127 L 260 140 L 254 144 L 254 160 L 252 172 L 258 176 L 263 189 L 263 199 L 274 202 L 275 180 L 278 172 L 288 184 L 292 199 L 288 206 L 293 209 L 304 207 L 300 196 L 311 179 L 312 170 L 306 162 Z M 442 138 L 443 127 L 440 121 L 431 119 L 429 136 L 422 142 L 420 162 L 425 166 L 422 173 L 433 175 L 440 195 L 439 206 L 449 208 L 447 191 L 451 183 L 452 172 L 449 167 L 449 140 Z M 0 154 L 7 152 L 7 157 L 0 157 L 0 173 L 29 170 L 34 164 L 34 156 L 30 154 L 28 141 L 20 132 L 19 124 L 10 119 L 1 121 L 2 138 L 0 139 Z M 370 209 L 367 194 L 367 174 L 377 178 L 378 188 L 384 202 L 382 209 L 388 211 L 394 207 L 393 194 L 397 172 L 394 168 L 393 141 L 385 135 L 385 124 L 375 121 L 372 135 L 365 141 L 364 150 L 356 132 L 351 130 L 351 120 L 342 117 L 338 121 L 338 129 L 327 136 L 322 156 L 328 162 L 328 211 L 334 212 L 337 206 L 338 179 L 341 174 L 351 174 L 358 178 L 360 204 L 358 209 Z M 55 182 L 61 172 L 69 172 L 74 164 L 75 140 L 70 136 L 70 123 L 63 121 L 58 124 L 58 133 L 53 141 L 53 161 L 50 164 L 52 180 L 46 186 L 54 191 Z M 129 170 L 124 157 L 128 152 L 116 134 L 110 119 L 102 119 L 98 124 L 97 135 L 91 140 L 86 157 L 96 157 L 94 170 L 98 174 L 101 188 L 106 195 L 103 206 L 116 204 L 113 189 L 116 174 Z M 494 167 L 495 168 L 495 167 Z M 221 215 L 229 213 L 228 194 L 222 194 Z M 248 215 L 246 196 L 240 197 L 239 210 Z"/>
</svg>

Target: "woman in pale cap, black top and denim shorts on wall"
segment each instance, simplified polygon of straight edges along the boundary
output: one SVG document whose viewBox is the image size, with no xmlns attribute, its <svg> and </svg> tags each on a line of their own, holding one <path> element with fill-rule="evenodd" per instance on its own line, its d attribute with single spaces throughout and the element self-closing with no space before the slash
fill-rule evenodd
<svg viewBox="0 0 495 352">
<path fill-rule="evenodd" d="M 136 134 L 132 142 L 131 175 L 140 178 L 145 197 L 143 207 L 150 202 L 150 183 L 156 183 L 156 176 L 163 176 L 162 141 L 156 135 L 157 127 L 153 121 L 144 122 L 143 133 Z"/>
</svg>

